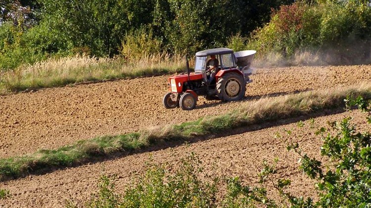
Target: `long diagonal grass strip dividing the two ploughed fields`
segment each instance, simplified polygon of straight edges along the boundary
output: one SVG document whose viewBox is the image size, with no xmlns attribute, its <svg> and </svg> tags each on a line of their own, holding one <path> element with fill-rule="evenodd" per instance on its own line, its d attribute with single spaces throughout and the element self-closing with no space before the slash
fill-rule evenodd
<svg viewBox="0 0 371 208">
<path fill-rule="evenodd" d="M 117 136 L 80 140 L 57 150 L 40 150 L 33 154 L 0 159 L 0 180 L 20 177 L 37 170 L 79 165 L 114 153 L 149 147 L 157 141 L 189 139 L 217 134 L 237 127 L 292 118 L 325 109 L 344 107 L 347 96 L 371 98 L 371 84 L 336 90 L 316 90 L 276 98 L 247 102 L 225 115 L 209 116 L 180 125 L 165 125 Z"/>
</svg>

